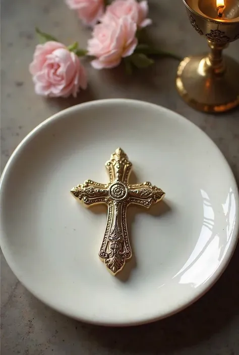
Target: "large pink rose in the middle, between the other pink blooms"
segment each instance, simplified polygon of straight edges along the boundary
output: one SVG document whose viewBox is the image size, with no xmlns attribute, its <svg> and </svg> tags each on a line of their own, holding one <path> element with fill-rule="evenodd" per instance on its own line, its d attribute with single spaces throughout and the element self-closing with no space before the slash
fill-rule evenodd
<svg viewBox="0 0 239 355">
<path fill-rule="evenodd" d="M 120 64 L 122 57 L 131 55 L 137 46 L 136 30 L 136 23 L 128 16 L 120 19 L 107 16 L 103 23 L 95 26 L 93 38 L 88 41 L 88 54 L 97 58 L 92 60 L 92 66 L 102 69 Z"/>
</svg>

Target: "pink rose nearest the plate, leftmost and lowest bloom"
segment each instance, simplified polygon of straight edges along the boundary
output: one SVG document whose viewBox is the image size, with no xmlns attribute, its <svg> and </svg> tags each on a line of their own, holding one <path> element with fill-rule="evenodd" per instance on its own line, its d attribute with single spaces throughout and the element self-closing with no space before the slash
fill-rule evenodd
<svg viewBox="0 0 239 355">
<path fill-rule="evenodd" d="M 29 65 L 35 92 L 49 97 L 76 97 L 80 88 L 86 89 L 85 68 L 78 56 L 59 42 L 49 41 L 36 46 Z"/>
</svg>

